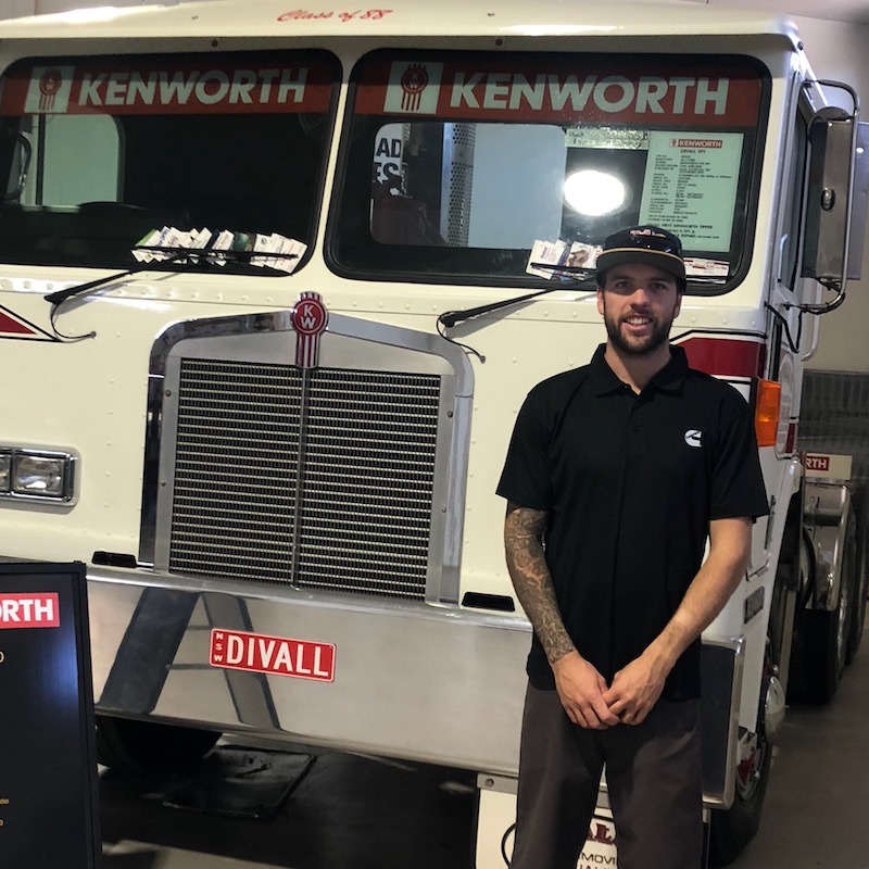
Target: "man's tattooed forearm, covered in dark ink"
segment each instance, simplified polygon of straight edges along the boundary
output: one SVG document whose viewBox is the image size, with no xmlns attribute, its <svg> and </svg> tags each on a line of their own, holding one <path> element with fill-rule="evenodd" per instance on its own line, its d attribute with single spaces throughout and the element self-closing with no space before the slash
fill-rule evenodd
<svg viewBox="0 0 869 869">
<path fill-rule="evenodd" d="M 546 512 L 507 504 L 504 547 L 516 595 L 534 628 L 546 657 L 555 663 L 574 643 L 564 627 L 541 539 Z"/>
</svg>

